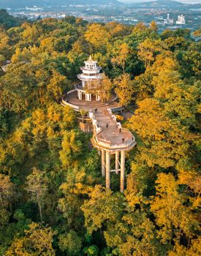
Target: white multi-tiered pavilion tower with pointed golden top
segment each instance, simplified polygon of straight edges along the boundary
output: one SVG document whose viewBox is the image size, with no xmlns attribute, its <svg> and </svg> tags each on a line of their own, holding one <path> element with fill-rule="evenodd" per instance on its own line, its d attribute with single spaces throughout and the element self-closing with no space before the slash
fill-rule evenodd
<svg viewBox="0 0 201 256">
<path fill-rule="evenodd" d="M 89 59 L 85 61 L 85 67 L 81 67 L 80 69 L 83 73 L 77 75 L 77 78 L 82 81 L 82 84 L 77 86 L 78 99 L 83 99 L 85 95 L 86 101 L 91 101 L 92 99 L 99 101 L 101 99 L 99 91 L 96 91 L 96 94 L 91 94 L 89 91 L 90 89 L 93 91 L 93 89 L 96 89 L 96 86 L 100 85 L 102 80 L 102 74 L 100 73 L 101 67 L 98 66 L 97 61 L 94 61 L 90 55 Z"/>
</svg>

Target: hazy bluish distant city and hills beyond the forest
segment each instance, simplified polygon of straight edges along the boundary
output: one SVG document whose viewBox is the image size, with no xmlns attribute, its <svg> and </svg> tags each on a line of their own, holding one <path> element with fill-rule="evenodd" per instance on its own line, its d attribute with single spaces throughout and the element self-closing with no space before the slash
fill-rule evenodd
<svg viewBox="0 0 201 256">
<path fill-rule="evenodd" d="M 135 4 L 69 4 L 60 6 L 43 4 L 42 6 L 34 5 L 15 9 L 7 7 L 7 10 L 15 17 L 28 20 L 59 19 L 65 18 L 67 15 L 80 17 L 88 22 L 115 21 L 133 25 L 140 21 L 149 24 L 155 20 L 161 31 L 167 28 L 199 29 L 201 20 L 201 4 L 182 4 L 162 0 Z"/>
</svg>

